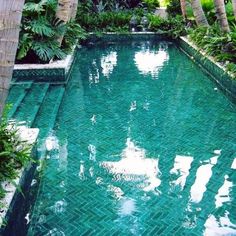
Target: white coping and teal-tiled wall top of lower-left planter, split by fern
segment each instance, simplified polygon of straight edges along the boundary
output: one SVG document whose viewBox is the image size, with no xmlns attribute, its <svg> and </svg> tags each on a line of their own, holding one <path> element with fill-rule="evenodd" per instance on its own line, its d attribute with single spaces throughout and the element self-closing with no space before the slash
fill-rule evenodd
<svg viewBox="0 0 236 236">
<path fill-rule="evenodd" d="M 38 138 L 39 129 L 32 129 L 25 126 L 19 126 L 17 129 L 21 140 L 25 141 L 26 145 L 32 145 L 32 149 L 30 150 L 31 156 L 35 155 L 34 145 Z M 30 163 L 25 169 L 19 170 L 18 177 L 13 181 L 15 184 L 7 181 L 2 183 L 2 186 L 7 191 L 7 193 L 6 196 L 0 200 L 0 204 L 3 206 L 0 212 L 0 234 L 4 230 L 6 222 L 13 211 L 17 195 L 21 194 L 19 191 L 17 191 L 16 186 L 19 186 L 20 189 L 23 189 L 27 178 L 27 172 L 31 168 L 31 165 L 32 163 Z"/>
</svg>

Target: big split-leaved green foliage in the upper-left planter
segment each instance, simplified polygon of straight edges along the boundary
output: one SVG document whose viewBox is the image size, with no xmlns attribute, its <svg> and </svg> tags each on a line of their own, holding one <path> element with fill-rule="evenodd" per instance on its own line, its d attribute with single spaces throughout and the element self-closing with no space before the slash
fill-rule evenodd
<svg viewBox="0 0 236 236">
<path fill-rule="evenodd" d="M 18 62 L 41 63 L 62 59 L 85 32 L 75 21 L 63 24 L 56 19 L 57 0 L 27 1 L 23 10 Z M 61 44 L 58 38 L 67 32 Z"/>
</svg>

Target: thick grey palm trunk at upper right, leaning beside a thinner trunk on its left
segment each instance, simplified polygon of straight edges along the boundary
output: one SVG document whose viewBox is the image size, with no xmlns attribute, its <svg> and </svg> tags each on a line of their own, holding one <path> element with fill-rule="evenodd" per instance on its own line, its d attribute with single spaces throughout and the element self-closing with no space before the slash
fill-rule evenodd
<svg viewBox="0 0 236 236">
<path fill-rule="evenodd" d="M 200 0 L 191 0 L 193 15 L 198 26 L 209 26 L 207 18 L 202 9 Z"/>
</svg>

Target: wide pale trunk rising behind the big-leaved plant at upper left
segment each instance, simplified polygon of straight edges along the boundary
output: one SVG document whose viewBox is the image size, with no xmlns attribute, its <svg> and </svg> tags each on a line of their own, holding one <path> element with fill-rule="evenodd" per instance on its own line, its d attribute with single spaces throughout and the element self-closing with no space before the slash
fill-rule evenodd
<svg viewBox="0 0 236 236">
<path fill-rule="evenodd" d="M 66 24 L 71 19 L 72 5 L 74 0 L 58 0 L 56 18 Z M 76 13 L 75 13 L 76 14 Z M 58 38 L 58 43 L 61 45 L 64 34 Z"/>
</svg>

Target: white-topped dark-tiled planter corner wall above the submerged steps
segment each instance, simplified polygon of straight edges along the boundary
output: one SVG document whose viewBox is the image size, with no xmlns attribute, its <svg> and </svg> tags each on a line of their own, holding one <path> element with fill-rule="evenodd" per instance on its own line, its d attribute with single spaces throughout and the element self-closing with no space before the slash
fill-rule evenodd
<svg viewBox="0 0 236 236">
<path fill-rule="evenodd" d="M 67 83 L 68 74 L 76 54 L 76 47 L 64 60 L 48 64 L 15 64 L 13 78 L 16 82 L 32 80 L 52 84 Z"/>
</svg>

